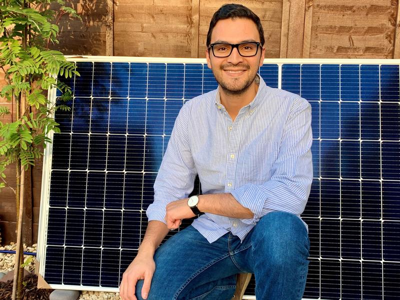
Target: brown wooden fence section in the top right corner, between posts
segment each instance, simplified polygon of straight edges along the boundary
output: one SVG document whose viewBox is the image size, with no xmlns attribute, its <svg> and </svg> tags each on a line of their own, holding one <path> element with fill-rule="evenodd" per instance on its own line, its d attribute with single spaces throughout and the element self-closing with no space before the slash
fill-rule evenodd
<svg viewBox="0 0 400 300">
<path fill-rule="evenodd" d="M 392 58 L 397 2 L 314 0 L 310 58 Z"/>
</svg>

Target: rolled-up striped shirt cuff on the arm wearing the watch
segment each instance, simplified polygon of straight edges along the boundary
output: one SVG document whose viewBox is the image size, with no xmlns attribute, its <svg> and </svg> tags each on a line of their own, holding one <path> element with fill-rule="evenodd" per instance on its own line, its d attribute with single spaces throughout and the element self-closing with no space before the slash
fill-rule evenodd
<svg viewBox="0 0 400 300">
<path fill-rule="evenodd" d="M 254 214 L 251 219 L 241 219 L 241 221 L 245 224 L 255 225 L 261 218 L 262 208 L 264 207 L 264 193 L 255 184 L 250 183 L 230 193 L 237 202 Z"/>
</svg>

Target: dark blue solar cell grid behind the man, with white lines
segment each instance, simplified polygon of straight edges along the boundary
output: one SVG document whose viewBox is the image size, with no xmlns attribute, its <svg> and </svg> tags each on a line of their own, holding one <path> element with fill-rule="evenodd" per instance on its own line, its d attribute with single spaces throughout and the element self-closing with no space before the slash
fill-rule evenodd
<svg viewBox="0 0 400 300">
<path fill-rule="evenodd" d="M 281 88 L 312 106 L 304 298 L 398 298 L 399 66 L 301 62 L 265 64 L 260 75 L 276 88 L 281 68 Z M 57 288 L 116 290 L 143 237 L 174 119 L 216 83 L 202 63 L 76 66 L 71 109 L 55 115 L 42 274 Z"/>
</svg>

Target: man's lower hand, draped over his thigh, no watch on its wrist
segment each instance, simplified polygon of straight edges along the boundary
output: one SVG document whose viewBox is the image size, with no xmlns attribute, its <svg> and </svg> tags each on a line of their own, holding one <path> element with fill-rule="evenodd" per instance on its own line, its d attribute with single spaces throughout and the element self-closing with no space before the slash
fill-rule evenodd
<svg viewBox="0 0 400 300">
<path fill-rule="evenodd" d="M 119 295 L 122 300 L 137 300 L 134 295 L 136 282 L 144 279 L 141 288 L 141 297 L 147 298 L 150 290 L 151 278 L 155 270 L 155 263 L 152 256 L 136 256 L 123 272 L 121 285 L 119 286 Z"/>
</svg>

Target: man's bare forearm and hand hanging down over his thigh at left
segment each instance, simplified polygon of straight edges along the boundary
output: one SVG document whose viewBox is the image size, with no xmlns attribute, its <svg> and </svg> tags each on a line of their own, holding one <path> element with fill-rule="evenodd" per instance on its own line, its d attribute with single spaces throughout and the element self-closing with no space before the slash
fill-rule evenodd
<svg viewBox="0 0 400 300">
<path fill-rule="evenodd" d="M 150 290 L 151 278 L 154 274 L 154 252 L 168 233 L 166 225 L 159 221 L 148 222 L 146 233 L 140 244 L 136 257 L 123 272 L 119 293 L 123 300 L 136 300 L 134 295 L 136 282 L 143 279 L 141 296 L 146 299 Z"/>
</svg>

